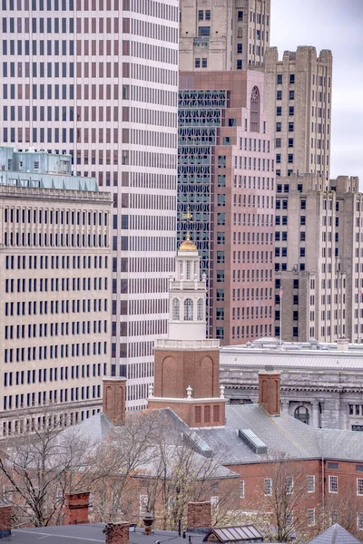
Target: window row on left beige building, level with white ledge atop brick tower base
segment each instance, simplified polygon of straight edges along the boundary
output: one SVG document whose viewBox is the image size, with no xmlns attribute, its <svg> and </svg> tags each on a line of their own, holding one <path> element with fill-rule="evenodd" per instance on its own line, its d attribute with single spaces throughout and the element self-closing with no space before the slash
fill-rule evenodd
<svg viewBox="0 0 363 544">
<path fill-rule="evenodd" d="M 26 361 L 43 361 L 63 359 L 64 357 L 80 357 L 89 355 L 107 355 L 107 342 L 83 342 L 82 344 L 38 345 L 33 347 L 16 347 L 4 350 L 5 363 L 24 363 Z"/>
</svg>

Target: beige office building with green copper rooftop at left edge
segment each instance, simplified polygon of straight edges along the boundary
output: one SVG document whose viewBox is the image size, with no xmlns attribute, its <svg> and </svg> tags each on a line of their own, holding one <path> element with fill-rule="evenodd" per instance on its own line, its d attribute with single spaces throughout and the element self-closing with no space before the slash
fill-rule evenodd
<svg viewBox="0 0 363 544">
<path fill-rule="evenodd" d="M 71 157 L 0 149 L 0 436 L 77 423 L 111 371 L 110 193 Z M 11 167 L 11 170 L 8 170 Z"/>
</svg>

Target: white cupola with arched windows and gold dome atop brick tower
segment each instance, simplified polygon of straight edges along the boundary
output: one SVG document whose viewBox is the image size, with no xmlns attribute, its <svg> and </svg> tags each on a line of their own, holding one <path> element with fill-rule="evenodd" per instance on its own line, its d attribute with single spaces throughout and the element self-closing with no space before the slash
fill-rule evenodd
<svg viewBox="0 0 363 544">
<path fill-rule="evenodd" d="M 169 283 L 169 335 L 171 340 L 204 340 L 206 334 L 206 276 L 201 257 L 189 232 L 176 257 L 175 277 Z"/>
</svg>

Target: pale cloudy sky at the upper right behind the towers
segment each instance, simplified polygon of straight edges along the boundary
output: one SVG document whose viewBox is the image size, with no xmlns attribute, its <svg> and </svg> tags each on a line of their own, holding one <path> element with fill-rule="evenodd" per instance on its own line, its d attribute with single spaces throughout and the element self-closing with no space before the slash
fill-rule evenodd
<svg viewBox="0 0 363 544">
<path fill-rule="evenodd" d="M 331 171 L 363 189 L 363 0 L 271 0 L 270 45 L 333 53 Z"/>
</svg>

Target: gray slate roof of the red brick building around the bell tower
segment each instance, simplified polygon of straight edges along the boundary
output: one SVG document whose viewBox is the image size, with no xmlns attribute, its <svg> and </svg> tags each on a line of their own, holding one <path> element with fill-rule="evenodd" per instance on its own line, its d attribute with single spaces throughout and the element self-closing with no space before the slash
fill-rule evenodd
<svg viewBox="0 0 363 544">
<path fill-rule="evenodd" d="M 170 425 L 170 445 L 191 430 L 170 408 L 159 411 Z M 132 413 L 133 417 L 135 413 Z M 130 416 L 131 417 L 131 416 Z M 74 426 L 80 436 L 90 442 L 102 442 L 113 429 L 104 413 Z M 121 429 L 121 428 L 120 428 Z M 250 429 L 264 442 L 268 453 L 255 453 L 239 436 L 239 429 Z M 224 465 L 269 461 L 271 458 L 337 459 L 363 463 L 363 432 L 314 429 L 281 413 L 271 417 L 259 404 L 230 404 L 226 406 L 226 425 L 219 428 L 193 429 L 213 452 L 218 452 Z M 197 435 L 197 436 L 195 436 Z M 191 441 L 192 442 L 192 441 Z M 201 453 L 197 444 L 196 452 Z M 227 476 L 227 474 L 225 474 Z"/>
</svg>

